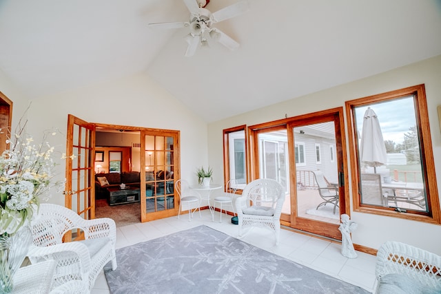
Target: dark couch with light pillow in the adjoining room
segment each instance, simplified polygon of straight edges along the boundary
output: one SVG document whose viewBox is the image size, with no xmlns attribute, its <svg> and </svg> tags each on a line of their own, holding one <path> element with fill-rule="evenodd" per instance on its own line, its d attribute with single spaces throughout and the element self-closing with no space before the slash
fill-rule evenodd
<svg viewBox="0 0 441 294">
<path fill-rule="evenodd" d="M 105 177 L 109 185 L 101 185 L 98 178 Z M 123 171 L 123 173 L 101 173 L 95 175 L 95 199 L 106 199 L 108 187 L 119 187 L 121 184 L 131 187 L 141 187 L 139 171 Z"/>
</svg>

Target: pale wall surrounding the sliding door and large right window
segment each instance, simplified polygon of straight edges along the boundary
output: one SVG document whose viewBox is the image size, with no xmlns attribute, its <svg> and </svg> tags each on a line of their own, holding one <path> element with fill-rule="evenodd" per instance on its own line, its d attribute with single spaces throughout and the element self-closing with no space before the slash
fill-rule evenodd
<svg viewBox="0 0 441 294">
<path fill-rule="evenodd" d="M 223 174 L 222 131 L 238 125 L 254 125 L 271 120 L 308 114 L 332 107 L 345 107 L 345 101 L 380 94 L 400 88 L 424 83 L 427 94 L 429 123 L 433 144 L 433 156 L 437 174 L 438 190 L 441 187 L 441 134 L 436 107 L 441 105 L 441 56 L 400 67 L 396 70 L 377 74 L 359 81 L 333 87 L 328 90 L 309 94 L 290 101 L 257 109 L 246 114 L 233 116 L 211 123 L 208 126 L 208 158 L 216 176 Z M 296 81 L 293 81 L 295 83 Z M 271 98 L 271 97 L 268 97 Z M 345 120 L 347 121 L 347 120 Z M 345 122 L 346 125 L 346 122 Z M 347 136 L 347 127 L 346 127 Z M 349 154 L 346 158 L 349 162 Z M 351 175 L 349 175 L 350 177 Z M 218 178 L 221 179 L 221 178 Z M 350 189 L 351 192 L 351 189 Z M 351 209 L 352 196 L 349 194 Z M 374 216 L 369 213 L 351 211 L 351 219 L 358 222 L 352 234 L 353 242 L 369 248 L 378 249 L 387 240 L 413 244 L 441 255 L 441 226 Z"/>
</svg>

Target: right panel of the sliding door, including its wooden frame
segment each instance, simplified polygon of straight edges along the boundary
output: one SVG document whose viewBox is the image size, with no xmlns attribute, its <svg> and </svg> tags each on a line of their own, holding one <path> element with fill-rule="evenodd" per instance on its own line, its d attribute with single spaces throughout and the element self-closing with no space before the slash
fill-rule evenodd
<svg viewBox="0 0 441 294">
<path fill-rule="evenodd" d="M 341 240 L 340 215 L 349 209 L 342 119 L 342 109 L 329 109 L 300 116 L 288 124 L 295 169 L 291 227 L 336 240 Z"/>
</svg>

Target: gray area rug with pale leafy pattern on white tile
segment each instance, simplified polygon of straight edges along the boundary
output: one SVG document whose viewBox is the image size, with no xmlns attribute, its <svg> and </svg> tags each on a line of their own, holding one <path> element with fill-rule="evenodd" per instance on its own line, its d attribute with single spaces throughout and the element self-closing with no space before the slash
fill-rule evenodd
<svg viewBox="0 0 441 294">
<path fill-rule="evenodd" d="M 110 293 L 369 293 L 206 226 L 116 250 Z"/>
</svg>

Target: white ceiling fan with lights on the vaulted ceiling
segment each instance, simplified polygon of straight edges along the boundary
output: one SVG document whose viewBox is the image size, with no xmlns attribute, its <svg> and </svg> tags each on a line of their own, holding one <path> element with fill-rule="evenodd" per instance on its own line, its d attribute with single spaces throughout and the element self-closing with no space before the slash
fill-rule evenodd
<svg viewBox="0 0 441 294">
<path fill-rule="evenodd" d="M 173 23 L 149 23 L 150 27 L 154 28 L 186 28 L 188 27 L 190 32 L 185 36 L 185 41 L 188 43 L 185 56 L 193 56 L 201 44 L 201 48 L 208 48 L 207 36 L 214 41 L 218 41 L 229 50 L 236 50 L 239 47 L 239 43 L 234 41 L 231 37 L 227 36 L 224 32 L 218 28 L 213 28 L 214 23 L 225 21 L 225 19 L 231 19 L 249 9 L 247 0 L 239 1 L 231 6 L 222 8 L 216 12 L 210 12 L 205 8 L 209 0 L 183 0 L 185 6 L 187 6 L 190 12 L 189 21 L 173 22 Z"/>
</svg>

